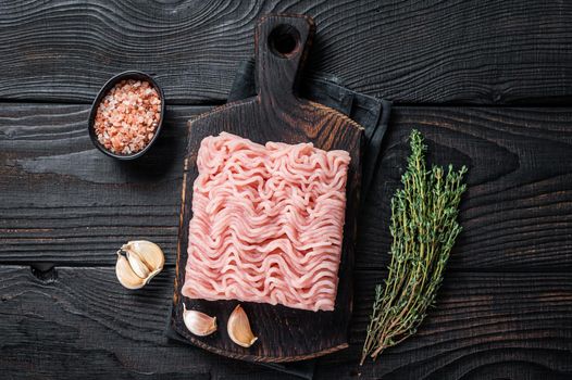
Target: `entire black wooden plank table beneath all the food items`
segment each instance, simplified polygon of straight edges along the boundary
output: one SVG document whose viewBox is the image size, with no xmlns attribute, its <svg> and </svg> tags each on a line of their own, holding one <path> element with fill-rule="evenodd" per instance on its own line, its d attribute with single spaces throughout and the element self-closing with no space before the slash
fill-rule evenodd
<svg viewBox="0 0 572 380">
<path fill-rule="evenodd" d="M 517 0 L 0 2 L 0 378 L 290 378 L 163 337 L 186 121 L 225 101 L 269 12 L 313 16 L 309 68 L 396 105 L 360 220 L 352 344 L 315 377 L 572 378 L 572 3 Z M 167 121 L 122 164 L 86 119 L 129 68 L 157 75 Z M 464 232 L 418 334 L 360 368 L 413 127 L 431 161 L 470 166 Z M 135 238 L 167 255 L 139 292 L 114 275 Z"/>
</svg>

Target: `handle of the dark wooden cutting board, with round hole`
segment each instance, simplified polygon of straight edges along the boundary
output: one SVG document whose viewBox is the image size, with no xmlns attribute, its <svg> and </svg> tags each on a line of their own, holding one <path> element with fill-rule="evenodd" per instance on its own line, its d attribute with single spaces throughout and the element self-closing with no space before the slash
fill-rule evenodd
<svg viewBox="0 0 572 380">
<path fill-rule="evenodd" d="M 254 36 L 257 93 L 271 104 L 294 104 L 298 73 L 303 67 L 314 34 L 314 21 L 301 14 L 269 14 Z"/>
</svg>

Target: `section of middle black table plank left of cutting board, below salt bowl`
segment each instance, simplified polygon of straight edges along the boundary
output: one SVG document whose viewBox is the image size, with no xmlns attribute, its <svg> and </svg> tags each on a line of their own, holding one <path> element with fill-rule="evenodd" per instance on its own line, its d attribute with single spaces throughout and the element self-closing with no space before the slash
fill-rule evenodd
<svg viewBox="0 0 572 380">
<path fill-rule="evenodd" d="M 0 111 L 2 261 L 114 261 L 145 238 L 176 254 L 186 123 L 206 107 L 169 107 L 157 147 L 137 162 L 95 149 L 86 105 L 3 105 Z"/>
</svg>

